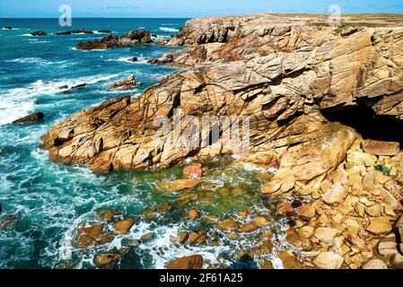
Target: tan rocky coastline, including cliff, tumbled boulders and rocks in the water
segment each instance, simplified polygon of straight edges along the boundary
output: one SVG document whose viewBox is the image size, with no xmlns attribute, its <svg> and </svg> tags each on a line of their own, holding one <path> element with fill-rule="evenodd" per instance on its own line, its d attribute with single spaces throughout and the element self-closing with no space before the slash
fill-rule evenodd
<svg viewBox="0 0 403 287">
<path fill-rule="evenodd" d="M 99 172 L 168 168 L 188 158 L 231 155 L 239 146 L 226 144 L 223 135 L 210 145 L 186 148 L 155 141 L 155 120 L 171 118 L 175 110 L 197 119 L 247 117 L 250 145 L 237 161 L 277 170 L 260 194 L 278 199 L 277 213 L 290 222 L 286 240 L 302 250 L 278 254 L 286 269 L 403 268 L 399 143 L 365 138 L 340 123 L 342 118 L 327 116 L 365 107 L 377 117 L 403 119 L 403 27 L 360 23 L 339 30 L 318 21 L 272 14 L 188 21 L 180 35 L 159 43 L 187 51 L 152 61 L 188 70 L 171 74 L 139 98 L 108 100 L 74 114 L 43 136 L 42 147 L 52 161 L 86 164 Z M 77 49 L 150 42 L 148 32 L 132 31 Z M 165 188 L 186 194 L 197 186 L 199 169 L 188 168 L 193 177 L 184 172 Z M 305 203 L 293 206 L 293 198 L 301 196 Z M 241 226 L 223 225 L 253 232 L 264 224 L 255 218 Z M 205 236 L 181 238 L 190 235 Z M 269 236 L 262 244 L 270 253 Z M 106 257 L 116 262 L 119 255 Z M 167 264 L 202 266 L 197 255 Z"/>
</svg>

